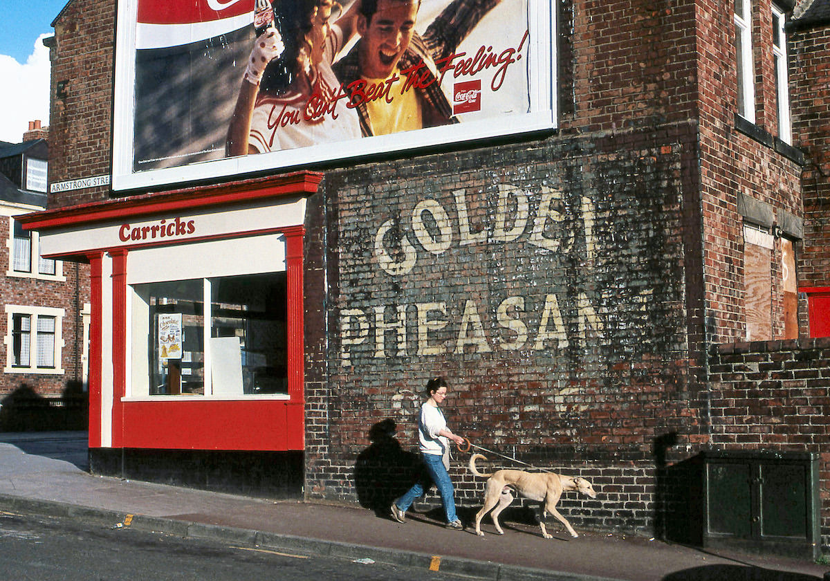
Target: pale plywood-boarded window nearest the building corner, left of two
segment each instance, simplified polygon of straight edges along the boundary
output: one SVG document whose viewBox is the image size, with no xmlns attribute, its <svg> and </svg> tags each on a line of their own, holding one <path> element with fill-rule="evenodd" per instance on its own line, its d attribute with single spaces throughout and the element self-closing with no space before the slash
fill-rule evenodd
<svg viewBox="0 0 830 581">
<path fill-rule="evenodd" d="M 744 226 L 744 291 L 746 340 L 772 339 L 772 248 L 774 238 L 763 228 Z"/>
</svg>

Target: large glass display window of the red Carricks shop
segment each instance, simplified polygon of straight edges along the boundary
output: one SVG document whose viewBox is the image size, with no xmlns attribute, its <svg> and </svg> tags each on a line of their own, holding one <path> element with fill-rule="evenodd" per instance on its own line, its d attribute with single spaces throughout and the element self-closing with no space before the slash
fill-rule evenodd
<svg viewBox="0 0 830 581">
<path fill-rule="evenodd" d="M 284 271 L 132 288 L 134 385 L 146 370 L 151 396 L 288 393 Z"/>
</svg>

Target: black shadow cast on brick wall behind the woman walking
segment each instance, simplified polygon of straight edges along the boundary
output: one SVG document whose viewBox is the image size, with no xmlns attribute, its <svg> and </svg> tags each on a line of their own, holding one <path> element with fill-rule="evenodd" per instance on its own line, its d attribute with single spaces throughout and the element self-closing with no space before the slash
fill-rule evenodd
<svg viewBox="0 0 830 581">
<path fill-rule="evenodd" d="M 392 419 L 369 429 L 368 448 L 354 464 L 354 486 L 358 501 L 378 516 L 388 517 L 393 500 L 409 490 L 421 469 L 421 457 L 406 452 L 395 438 L 398 425 Z"/>
</svg>

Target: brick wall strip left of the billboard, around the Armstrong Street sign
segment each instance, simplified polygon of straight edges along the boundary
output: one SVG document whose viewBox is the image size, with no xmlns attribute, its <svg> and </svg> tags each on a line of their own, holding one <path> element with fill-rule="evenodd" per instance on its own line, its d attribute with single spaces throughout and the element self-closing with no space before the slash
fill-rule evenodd
<svg viewBox="0 0 830 581">
<path fill-rule="evenodd" d="M 115 2 L 73 0 L 55 22 L 51 49 L 49 182 L 109 175 Z M 49 207 L 109 196 L 109 188 L 50 194 Z"/>
</svg>

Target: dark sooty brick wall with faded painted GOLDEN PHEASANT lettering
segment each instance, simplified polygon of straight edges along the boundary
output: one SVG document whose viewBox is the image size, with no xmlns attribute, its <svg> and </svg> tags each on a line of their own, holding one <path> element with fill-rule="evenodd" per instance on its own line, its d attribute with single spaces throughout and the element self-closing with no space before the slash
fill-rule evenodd
<svg viewBox="0 0 830 581">
<path fill-rule="evenodd" d="M 306 385 L 310 496 L 385 510 L 411 483 L 423 388 L 442 375 L 453 430 L 598 486 L 564 500 L 575 525 L 651 526 L 656 439 L 699 441 L 681 219 L 693 148 L 636 141 L 326 174 L 327 240 L 310 246 L 327 245 L 329 378 Z M 456 456 L 457 496 L 476 505 L 483 481 Z"/>
</svg>

